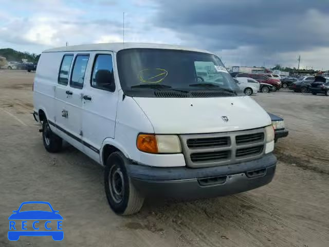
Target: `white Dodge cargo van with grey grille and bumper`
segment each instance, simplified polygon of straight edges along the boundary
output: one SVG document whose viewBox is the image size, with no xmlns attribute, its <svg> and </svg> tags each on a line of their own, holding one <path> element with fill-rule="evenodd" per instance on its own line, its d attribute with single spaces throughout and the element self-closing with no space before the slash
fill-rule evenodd
<svg viewBox="0 0 329 247">
<path fill-rule="evenodd" d="M 211 81 L 196 64 L 213 67 Z M 136 213 L 147 196 L 224 196 L 275 174 L 269 115 L 209 51 L 136 43 L 45 50 L 33 103 L 46 150 L 60 151 L 64 139 L 105 167 L 117 214 Z"/>
</svg>

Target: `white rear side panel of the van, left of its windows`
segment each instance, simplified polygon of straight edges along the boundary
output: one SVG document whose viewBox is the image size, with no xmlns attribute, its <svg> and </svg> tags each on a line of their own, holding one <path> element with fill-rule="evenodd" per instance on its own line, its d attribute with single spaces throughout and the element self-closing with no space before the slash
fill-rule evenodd
<svg viewBox="0 0 329 247">
<path fill-rule="evenodd" d="M 54 96 L 62 57 L 62 52 L 42 53 L 34 77 L 34 111 L 43 110 L 47 119 L 52 122 L 55 122 Z M 50 128 L 57 132 L 54 127 L 50 126 Z"/>
</svg>

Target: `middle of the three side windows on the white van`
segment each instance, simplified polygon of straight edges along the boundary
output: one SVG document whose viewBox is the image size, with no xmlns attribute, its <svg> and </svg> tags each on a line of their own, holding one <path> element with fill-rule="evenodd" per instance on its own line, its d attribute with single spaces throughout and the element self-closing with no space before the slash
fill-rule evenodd
<svg viewBox="0 0 329 247">
<path fill-rule="evenodd" d="M 70 86 L 82 89 L 89 55 L 77 55 L 71 74 Z"/>
</svg>

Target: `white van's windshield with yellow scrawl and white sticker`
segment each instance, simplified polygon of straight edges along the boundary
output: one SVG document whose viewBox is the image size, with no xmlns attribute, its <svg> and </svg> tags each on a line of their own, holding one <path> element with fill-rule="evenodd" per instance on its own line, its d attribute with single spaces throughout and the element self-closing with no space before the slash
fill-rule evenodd
<svg viewBox="0 0 329 247">
<path fill-rule="evenodd" d="M 171 49 L 125 49 L 117 54 L 123 92 L 152 97 L 154 91 L 225 91 L 241 93 L 222 61 L 202 52 Z"/>
</svg>

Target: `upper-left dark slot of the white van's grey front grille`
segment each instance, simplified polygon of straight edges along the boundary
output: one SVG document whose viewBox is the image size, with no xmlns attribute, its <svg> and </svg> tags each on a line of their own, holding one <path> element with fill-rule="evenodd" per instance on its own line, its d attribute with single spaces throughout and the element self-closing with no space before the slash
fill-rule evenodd
<svg viewBox="0 0 329 247">
<path fill-rule="evenodd" d="M 189 148 L 228 147 L 230 145 L 231 145 L 231 139 L 229 136 L 195 138 L 195 139 L 187 140 L 187 146 Z"/>
</svg>

